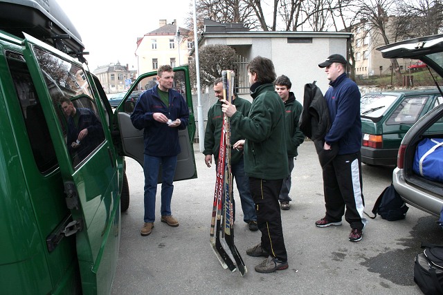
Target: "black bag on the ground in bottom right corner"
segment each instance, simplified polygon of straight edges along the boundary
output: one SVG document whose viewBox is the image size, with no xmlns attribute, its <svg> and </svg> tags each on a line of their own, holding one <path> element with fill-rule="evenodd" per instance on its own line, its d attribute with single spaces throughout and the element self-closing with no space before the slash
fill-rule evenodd
<svg viewBox="0 0 443 295">
<path fill-rule="evenodd" d="M 414 282 L 423 294 L 443 294 L 443 246 L 422 242 L 422 248 L 415 256 Z"/>
</svg>

